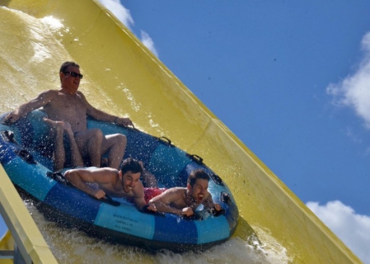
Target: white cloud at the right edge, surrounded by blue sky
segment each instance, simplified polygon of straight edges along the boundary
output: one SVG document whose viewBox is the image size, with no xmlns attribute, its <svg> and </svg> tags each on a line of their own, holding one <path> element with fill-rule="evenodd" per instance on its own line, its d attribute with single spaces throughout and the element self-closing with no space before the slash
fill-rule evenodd
<svg viewBox="0 0 370 264">
<path fill-rule="evenodd" d="M 364 57 L 357 71 L 340 83 L 329 84 L 326 92 L 333 96 L 335 104 L 353 108 L 370 129 L 370 32 L 362 38 L 361 45 Z"/>
</svg>

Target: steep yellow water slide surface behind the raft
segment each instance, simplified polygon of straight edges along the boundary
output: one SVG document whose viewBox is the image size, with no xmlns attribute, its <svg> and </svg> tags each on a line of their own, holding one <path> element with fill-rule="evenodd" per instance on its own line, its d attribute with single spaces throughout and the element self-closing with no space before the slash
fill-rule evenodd
<svg viewBox="0 0 370 264">
<path fill-rule="evenodd" d="M 137 128 L 153 136 L 169 138 L 188 153 L 201 156 L 223 178 L 240 211 L 231 241 L 249 241 L 251 225 L 262 248 L 271 250 L 269 254 L 284 251 L 284 259 L 277 262 L 361 263 L 97 1 L 0 0 L 0 34 L 1 113 L 45 89 L 58 88 L 60 64 L 74 60 L 84 75 L 80 90 L 91 104 L 129 116 Z M 18 217 L 17 212 L 12 214 Z M 48 245 L 52 251 L 57 246 Z M 68 255 L 75 246 L 64 248 Z"/>
</svg>

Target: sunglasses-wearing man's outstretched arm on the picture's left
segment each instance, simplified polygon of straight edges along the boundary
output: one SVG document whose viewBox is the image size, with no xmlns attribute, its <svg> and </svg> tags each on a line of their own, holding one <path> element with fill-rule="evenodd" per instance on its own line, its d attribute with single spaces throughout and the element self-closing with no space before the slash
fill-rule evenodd
<svg viewBox="0 0 370 264">
<path fill-rule="evenodd" d="M 4 121 L 13 123 L 17 121 L 19 118 L 28 114 L 29 112 L 47 105 L 52 100 L 52 98 L 56 95 L 56 93 L 57 93 L 56 90 L 47 90 L 47 91 L 41 92 L 33 100 L 30 100 L 27 103 L 20 105 L 13 112 L 9 113 Z"/>
</svg>

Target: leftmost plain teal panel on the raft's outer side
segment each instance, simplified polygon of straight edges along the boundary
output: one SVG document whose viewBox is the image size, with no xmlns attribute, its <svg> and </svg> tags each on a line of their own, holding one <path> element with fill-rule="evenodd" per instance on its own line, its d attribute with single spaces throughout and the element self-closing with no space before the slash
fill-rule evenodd
<svg viewBox="0 0 370 264">
<path fill-rule="evenodd" d="M 46 176 L 49 172 L 47 168 L 40 164 L 29 164 L 19 157 L 7 163 L 4 169 L 14 184 L 32 193 L 40 201 L 45 200 L 49 190 L 56 184 L 56 181 Z"/>
</svg>

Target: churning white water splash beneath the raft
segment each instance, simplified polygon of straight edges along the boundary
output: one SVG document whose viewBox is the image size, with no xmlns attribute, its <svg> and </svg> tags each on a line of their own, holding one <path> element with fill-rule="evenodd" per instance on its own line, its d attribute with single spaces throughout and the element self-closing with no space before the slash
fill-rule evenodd
<svg viewBox="0 0 370 264">
<path fill-rule="evenodd" d="M 125 245 L 112 245 L 108 242 L 88 237 L 76 229 L 61 227 L 54 222 L 47 221 L 41 215 L 32 201 L 24 201 L 28 211 L 33 216 L 41 234 L 49 245 L 59 263 L 251 263 L 273 264 L 288 263 L 285 249 L 274 243 L 274 246 L 262 245 L 257 238 L 243 240 L 239 237 L 231 238 L 223 244 L 214 246 L 201 253 L 189 251 L 174 253 L 161 250 L 149 253 L 143 249 Z M 263 238 L 272 241 L 268 233 L 259 230 Z"/>
</svg>

